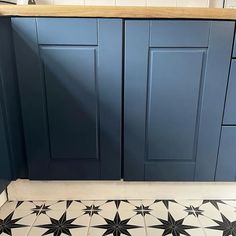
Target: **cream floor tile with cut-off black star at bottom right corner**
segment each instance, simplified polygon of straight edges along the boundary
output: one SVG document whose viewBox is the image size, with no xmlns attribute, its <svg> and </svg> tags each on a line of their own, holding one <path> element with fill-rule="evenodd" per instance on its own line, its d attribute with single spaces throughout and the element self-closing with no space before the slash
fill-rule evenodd
<svg viewBox="0 0 236 236">
<path fill-rule="evenodd" d="M 204 200 L 198 208 L 198 219 L 207 236 L 236 236 L 235 202 Z"/>
</svg>

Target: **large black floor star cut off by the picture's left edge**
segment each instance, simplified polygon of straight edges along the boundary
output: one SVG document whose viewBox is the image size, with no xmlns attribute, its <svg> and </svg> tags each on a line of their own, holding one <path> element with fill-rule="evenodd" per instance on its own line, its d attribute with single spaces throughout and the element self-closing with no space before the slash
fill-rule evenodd
<svg viewBox="0 0 236 236">
<path fill-rule="evenodd" d="M 27 225 L 16 224 L 22 218 L 12 219 L 14 211 L 10 213 L 5 219 L 0 219 L 0 235 L 5 233 L 12 235 L 12 229 L 27 227 Z"/>
</svg>

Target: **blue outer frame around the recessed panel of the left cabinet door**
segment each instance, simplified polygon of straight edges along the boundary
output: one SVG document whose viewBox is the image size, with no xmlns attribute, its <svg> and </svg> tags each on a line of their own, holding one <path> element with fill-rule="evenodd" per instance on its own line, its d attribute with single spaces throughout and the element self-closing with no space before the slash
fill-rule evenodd
<svg viewBox="0 0 236 236">
<path fill-rule="evenodd" d="M 45 23 L 61 34 L 60 39 L 52 36 L 47 41 Z M 65 35 L 60 24 L 74 38 Z M 79 24 L 79 23 L 80 24 Z M 83 23 L 88 24 L 83 24 Z M 92 22 L 90 24 L 90 22 Z M 69 23 L 69 24 L 67 24 Z M 79 28 L 76 28 L 78 24 Z M 92 27 L 91 25 L 96 25 Z M 44 27 L 45 26 L 45 27 Z M 68 26 L 68 27 L 67 27 Z M 88 27 L 86 27 L 88 26 Z M 91 28 L 90 28 L 91 26 Z M 49 28 L 50 28 L 49 27 Z M 122 58 L 122 20 L 85 18 L 12 18 L 12 28 L 16 49 L 21 105 L 25 131 L 26 151 L 30 179 L 120 179 L 121 177 L 121 58 Z M 97 39 L 90 45 L 89 30 L 95 31 Z M 40 37 L 39 32 L 40 31 Z M 88 34 L 81 35 L 81 32 Z M 78 36 L 76 38 L 76 36 Z M 72 40 L 72 41 L 70 41 Z M 77 41 L 74 41 L 77 40 Z M 45 81 L 40 55 L 41 45 L 61 43 L 66 46 L 95 46 L 97 53 L 96 80 L 99 88 L 99 160 L 86 162 L 71 159 L 60 162 L 52 160 L 48 132 L 47 104 L 45 101 Z M 96 45 L 94 45 L 96 44 Z M 62 45 L 63 46 L 63 45 Z M 112 61 L 111 58 L 114 58 Z M 22 59 L 23 58 L 23 59 Z M 109 107 L 116 110 L 114 115 Z M 81 137 L 82 138 L 82 137 Z M 109 140 L 114 145 L 107 145 Z M 55 167 L 55 168 L 54 168 Z M 88 171 L 89 168 L 89 171 Z M 58 174 L 61 172 L 61 174 Z"/>
</svg>

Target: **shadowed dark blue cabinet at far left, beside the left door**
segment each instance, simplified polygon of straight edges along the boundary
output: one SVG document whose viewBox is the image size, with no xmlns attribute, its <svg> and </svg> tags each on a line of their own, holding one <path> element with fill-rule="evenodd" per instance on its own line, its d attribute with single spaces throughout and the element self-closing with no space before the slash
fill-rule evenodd
<svg viewBox="0 0 236 236">
<path fill-rule="evenodd" d="M 26 176 L 11 19 L 5 17 L 0 18 L 0 193 L 11 180 Z"/>
</svg>

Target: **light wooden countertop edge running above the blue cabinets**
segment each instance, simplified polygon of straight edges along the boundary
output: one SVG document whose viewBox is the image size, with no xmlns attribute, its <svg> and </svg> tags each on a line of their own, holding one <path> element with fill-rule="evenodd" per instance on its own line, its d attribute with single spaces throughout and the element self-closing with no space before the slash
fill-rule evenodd
<svg viewBox="0 0 236 236">
<path fill-rule="evenodd" d="M 12 6 L 0 5 L 0 16 L 107 17 L 236 20 L 236 10 L 218 8 Z"/>
</svg>

